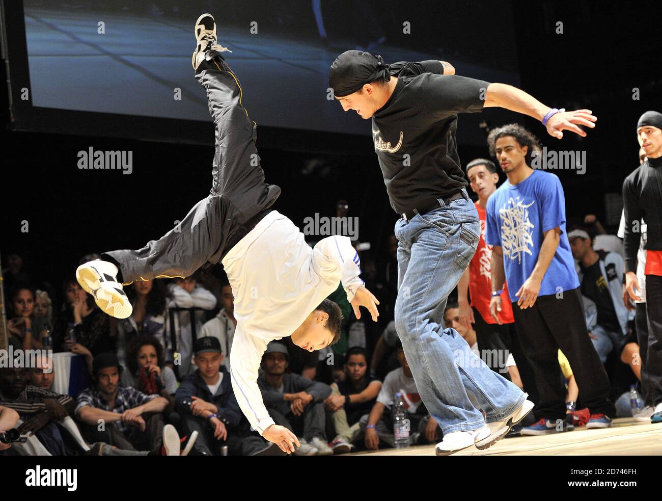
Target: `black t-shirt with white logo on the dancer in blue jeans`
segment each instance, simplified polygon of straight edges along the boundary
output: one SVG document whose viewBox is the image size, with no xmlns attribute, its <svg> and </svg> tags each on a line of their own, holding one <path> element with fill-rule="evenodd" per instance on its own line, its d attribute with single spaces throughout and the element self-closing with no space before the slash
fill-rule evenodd
<svg viewBox="0 0 662 501">
<path fill-rule="evenodd" d="M 481 111 L 489 83 L 443 72 L 438 61 L 391 64 L 398 83 L 373 116 L 375 152 L 397 213 L 467 186 L 455 144 L 457 113 Z"/>
</svg>

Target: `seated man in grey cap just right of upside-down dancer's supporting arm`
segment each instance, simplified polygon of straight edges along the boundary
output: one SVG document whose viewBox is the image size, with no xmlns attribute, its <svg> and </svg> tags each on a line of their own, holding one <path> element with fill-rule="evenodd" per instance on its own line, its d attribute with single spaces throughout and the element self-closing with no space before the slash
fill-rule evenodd
<svg viewBox="0 0 662 501">
<path fill-rule="evenodd" d="M 324 399 L 331 388 L 299 374 L 287 372 L 289 353 L 278 341 L 271 341 L 262 356 L 263 375 L 258 386 L 269 416 L 299 437 L 296 455 L 332 455 L 326 440 Z"/>
</svg>

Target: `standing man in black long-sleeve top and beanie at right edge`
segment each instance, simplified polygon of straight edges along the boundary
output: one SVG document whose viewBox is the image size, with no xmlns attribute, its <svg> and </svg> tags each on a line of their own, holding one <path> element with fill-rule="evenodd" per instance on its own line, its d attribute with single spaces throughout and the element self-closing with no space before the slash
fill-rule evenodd
<svg viewBox="0 0 662 501">
<path fill-rule="evenodd" d="M 651 423 L 662 423 L 662 113 L 647 111 L 639 117 L 637 139 L 647 160 L 623 183 L 626 288 L 630 298 L 641 300 L 636 270 L 639 222 L 643 219 L 647 225 L 644 274 L 648 335 L 639 333 L 639 353 L 641 372 L 647 375 L 649 385 L 644 393 L 652 400 L 647 403 L 655 406 Z"/>
</svg>

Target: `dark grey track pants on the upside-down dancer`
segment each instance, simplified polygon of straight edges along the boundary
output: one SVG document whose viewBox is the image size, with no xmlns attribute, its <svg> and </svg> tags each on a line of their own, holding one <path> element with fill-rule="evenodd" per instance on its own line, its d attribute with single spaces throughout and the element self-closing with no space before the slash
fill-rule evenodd
<svg viewBox="0 0 662 501">
<path fill-rule="evenodd" d="M 207 262 L 218 262 L 229 250 L 228 236 L 270 207 L 281 193 L 278 186 L 265 184 L 255 144 L 256 124 L 242 104 L 239 80 L 220 56 L 209 62 L 218 69 L 205 69 L 195 78 L 207 91 L 216 126 L 211 193 L 181 223 L 142 249 L 101 254 L 118 264 L 124 284 L 187 277 Z"/>
</svg>

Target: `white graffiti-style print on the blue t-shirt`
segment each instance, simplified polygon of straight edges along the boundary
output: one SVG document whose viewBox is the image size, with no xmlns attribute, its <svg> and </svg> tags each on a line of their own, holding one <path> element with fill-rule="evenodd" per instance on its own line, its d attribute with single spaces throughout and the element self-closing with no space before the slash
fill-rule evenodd
<svg viewBox="0 0 662 501">
<path fill-rule="evenodd" d="M 510 197 L 504 206 L 499 209 L 501 217 L 501 240 L 504 256 L 511 260 L 522 262 L 522 252 L 530 256 L 534 247 L 533 232 L 535 225 L 529 219 L 529 207 L 536 201 L 524 203 L 520 197 Z"/>
</svg>

